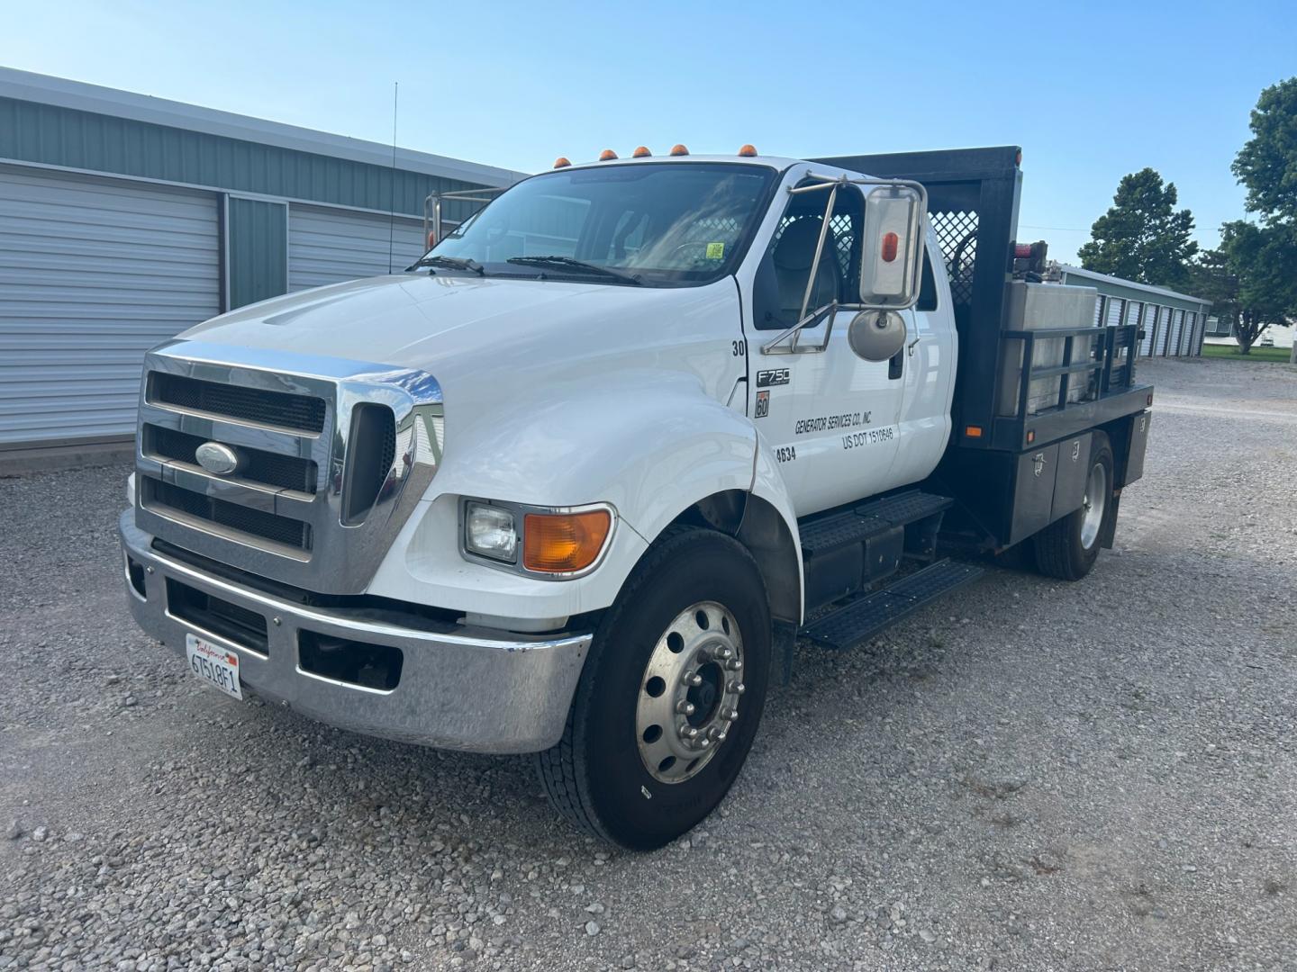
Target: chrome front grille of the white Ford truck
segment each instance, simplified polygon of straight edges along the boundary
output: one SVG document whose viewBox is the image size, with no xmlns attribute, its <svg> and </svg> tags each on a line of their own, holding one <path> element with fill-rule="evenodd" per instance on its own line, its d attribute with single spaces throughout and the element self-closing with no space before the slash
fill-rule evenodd
<svg viewBox="0 0 1297 972">
<path fill-rule="evenodd" d="M 424 372 L 176 341 L 149 353 L 140 399 L 140 529 L 322 594 L 364 590 L 441 461 Z M 233 472 L 201 467 L 208 442 Z"/>
</svg>

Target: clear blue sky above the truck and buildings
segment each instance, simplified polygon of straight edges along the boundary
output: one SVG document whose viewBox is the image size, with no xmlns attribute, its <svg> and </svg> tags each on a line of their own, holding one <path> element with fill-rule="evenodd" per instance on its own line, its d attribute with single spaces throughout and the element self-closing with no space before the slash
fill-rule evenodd
<svg viewBox="0 0 1297 972">
<path fill-rule="evenodd" d="M 0 64 L 536 171 L 638 144 L 794 157 L 1023 148 L 1019 238 L 1071 259 L 1117 181 L 1176 184 L 1198 238 L 1297 74 L 1297 3 L 0 0 Z"/>
</svg>

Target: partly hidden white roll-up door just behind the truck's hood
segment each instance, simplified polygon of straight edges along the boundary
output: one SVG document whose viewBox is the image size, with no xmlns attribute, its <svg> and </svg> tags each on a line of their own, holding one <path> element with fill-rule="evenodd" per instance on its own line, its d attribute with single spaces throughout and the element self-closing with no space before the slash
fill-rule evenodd
<svg viewBox="0 0 1297 972">
<path fill-rule="evenodd" d="M 390 264 L 389 264 L 390 242 Z M 423 220 L 316 206 L 288 207 L 288 289 L 399 273 L 425 251 Z"/>
</svg>

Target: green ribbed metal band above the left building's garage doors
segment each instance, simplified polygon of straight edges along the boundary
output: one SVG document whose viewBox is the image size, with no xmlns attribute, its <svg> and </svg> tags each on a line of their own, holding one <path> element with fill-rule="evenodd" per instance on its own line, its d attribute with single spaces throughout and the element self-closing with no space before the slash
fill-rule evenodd
<svg viewBox="0 0 1297 972">
<path fill-rule="evenodd" d="M 423 215 L 433 192 L 479 183 L 332 158 L 163 124 L 0 97 L 0 161 L 79 168 L 208 189 Z M 393 187 L 394 180 L 394 187 Z M 460 203 L 463 206 L 463 203 Z M 455 213 L 463 219 L 471 210 Z"/>
</svg>

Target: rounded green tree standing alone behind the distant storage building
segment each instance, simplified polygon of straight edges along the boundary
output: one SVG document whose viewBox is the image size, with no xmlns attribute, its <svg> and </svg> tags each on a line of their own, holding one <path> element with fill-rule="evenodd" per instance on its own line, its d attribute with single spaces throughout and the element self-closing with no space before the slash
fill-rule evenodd
<svg viewBox="0 0 1297 972">
<path fill-rule="evenodd" d="M 1193 214 L 1175 210 L 1175 183 L 1143 168 L 1122 178 L 1113 206 L 1095 220 L 1080 266 L 1154 286 L 1183 288 L 1198 245 L 1189 238 Z"/>
</svg>

